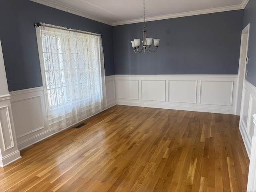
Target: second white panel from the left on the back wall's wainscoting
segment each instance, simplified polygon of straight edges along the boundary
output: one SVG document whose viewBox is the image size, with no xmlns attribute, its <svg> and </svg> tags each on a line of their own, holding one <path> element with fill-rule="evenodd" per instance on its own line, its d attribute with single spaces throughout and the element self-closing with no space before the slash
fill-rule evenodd
<svg viewBox="0 0 256 192">
<path fill-rule="evenodd" d="M 165 101 L 165 80 L 142 80 L 141 99 Z"/>
</svg>

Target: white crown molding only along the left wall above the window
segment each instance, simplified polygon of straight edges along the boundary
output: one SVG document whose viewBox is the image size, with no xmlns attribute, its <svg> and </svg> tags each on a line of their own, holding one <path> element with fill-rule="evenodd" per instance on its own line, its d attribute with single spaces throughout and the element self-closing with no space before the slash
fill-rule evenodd
<svg viewBox="0 0 256 192">
<path fill-rule="evenodd" d="M 78 15 L 78 16 L 82 16 L 84 18 L 88 18 L 88 19 L 91 19 L 91 20 L 94 20 L 94 21 L 98 21 L 98 22 L 101 22 L 101 23 L 104 23 L 104 24 L 108 24 L 108 25 L 111 25 L 111 26 L 113 24 L 110 21 L 104 20 L 102 18 L 98 18 L 98 17 L 93 16 L 91 14 L 87 14 L 87 13 L 84 13 L 82 11 L 79 11 L 79 10 L 76 10 L 76 9 L 73 9 L 73 8 L 69 8 L 69 7 L 64 6 L 62 4 L 58 4 L 58 3 L 55 3 L 55 2 L 52 2 L 52 1 L 49 1 L 49 0 L 44 0 L 44 1 L 41 1 L 41 0 L 30 0 L 30 1 L 46 5 L 48 7 L 56 8 L 58 10 L 62 10 L 62 11 L 68 12 L 68 13 L 72 13 L 72 14 Z"/>
</svg>

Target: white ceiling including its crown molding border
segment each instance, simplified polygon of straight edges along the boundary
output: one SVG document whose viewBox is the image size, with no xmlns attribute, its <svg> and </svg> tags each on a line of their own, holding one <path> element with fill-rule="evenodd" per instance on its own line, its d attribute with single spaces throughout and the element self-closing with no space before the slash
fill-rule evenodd
<svg viewBox="0 0 256 192">
<path fill-rule="evenodd" d="M 112 26 L 143 21 L 143 0 L 31 0 Z M 145 0 L 146 21 L 243 9 L 249 0 Z"/>
</svg>

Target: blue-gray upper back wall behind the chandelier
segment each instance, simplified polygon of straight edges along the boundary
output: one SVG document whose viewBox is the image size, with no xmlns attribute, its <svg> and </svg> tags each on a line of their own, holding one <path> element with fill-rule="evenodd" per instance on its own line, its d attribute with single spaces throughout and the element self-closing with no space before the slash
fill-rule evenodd
<svg viewBox="0 0 256 192">
<path fill-rule="evenodd" d="M 130 43 L 142 39 L 142 23 L 114 26 L 115 74 L 238 74 L 243 12 L 146 22 L 147 36 L 160 38 L 146 54 Z"/>
</svg>

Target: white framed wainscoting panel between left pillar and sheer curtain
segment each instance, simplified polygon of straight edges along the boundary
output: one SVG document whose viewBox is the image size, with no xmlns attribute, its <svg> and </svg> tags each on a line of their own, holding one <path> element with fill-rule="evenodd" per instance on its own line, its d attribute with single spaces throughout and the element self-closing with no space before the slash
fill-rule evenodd
<svg viewBox="0 0 256 192">
<path fill-rule="evenodd" d="M 44 128 L 44 114 L 40 96 L 12 102 L 16 138 Z"/>
</svg>

